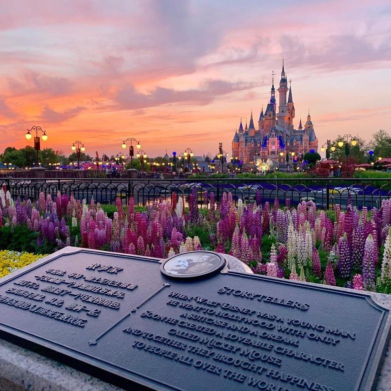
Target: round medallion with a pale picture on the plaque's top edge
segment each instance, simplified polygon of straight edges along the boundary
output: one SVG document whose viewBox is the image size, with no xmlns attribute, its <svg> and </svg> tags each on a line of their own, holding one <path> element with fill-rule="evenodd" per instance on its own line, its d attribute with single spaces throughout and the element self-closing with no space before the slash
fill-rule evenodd
<svg viewBox="0 0 391 391">
<path fill-rule="evenodd" d="M 168 258 L 160 266 L 160 271 L 173 278 L 196 278 L 221 270 L 226 260 L 212 251 L 189 251 Z"/>
</svg>

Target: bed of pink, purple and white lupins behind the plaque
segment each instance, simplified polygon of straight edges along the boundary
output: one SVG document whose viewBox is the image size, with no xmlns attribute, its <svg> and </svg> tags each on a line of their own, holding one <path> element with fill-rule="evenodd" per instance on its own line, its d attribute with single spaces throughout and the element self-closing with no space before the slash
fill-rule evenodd
<svg viewBox="0 0 391 391">
<path fill-rule="evenodd" d="M 127 254 L 166 258 L 197 249 L 229 253 L 255 273 L 354 289 L 389 292 L 391 288 L 391 200 L 370 213 L 337 205 L 317 210 L 312 201 L 297 208 L 263 203 L 235 206 L 231 193 L 215 203 L 214 193 L 199 208 L 198 193 L 189 208 L 173 194 L 146 209 L 134 200 L 106 209 L 58 194 L 56 200 L 12 201 L 0 189 L 0 248 L 50 253 L 73 245 Z M 115 210 L 115 212 L 114 212 Z"/>
</svg>

